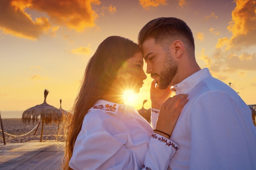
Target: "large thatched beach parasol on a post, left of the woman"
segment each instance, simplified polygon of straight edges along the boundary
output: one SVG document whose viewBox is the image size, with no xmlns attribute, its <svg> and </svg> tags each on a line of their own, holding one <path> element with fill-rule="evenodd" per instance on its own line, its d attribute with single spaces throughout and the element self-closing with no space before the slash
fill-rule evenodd
<svg viewBox="0 0 256 170">
<path fill-rule="evenodd" d="M 40 142 L 42 142 L 44 123 L 45 124 L 52 124 L 52 122 L 58 123 L 62 117 L 62 111 L 60 109 L 47 104 L 46 97 L 48 93 L 49 91 L 45 89 L 45 92 L 44 92 L 45 100 L 41 105 L 36 105 L 34 107 L 31 107 L 22 113 L 22 120 L 24 123 L 26 122 L 30 123 L 31 121 L 33 123 L 38 122 L 39 119 L 42 122 Z"/>
</svg>

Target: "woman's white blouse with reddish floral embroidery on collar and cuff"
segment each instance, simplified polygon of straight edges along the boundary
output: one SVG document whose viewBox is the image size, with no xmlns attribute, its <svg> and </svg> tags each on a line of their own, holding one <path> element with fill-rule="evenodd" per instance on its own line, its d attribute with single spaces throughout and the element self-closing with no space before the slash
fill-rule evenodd
<svg viewBox="0 0 256 170">
<path fill-rule="evenodd" d="M 164 170 L 177 149 L 153 133 L 134 107 L 99 100 L 84 117 L 69 165 L 74 170 Z"/>
</svg>

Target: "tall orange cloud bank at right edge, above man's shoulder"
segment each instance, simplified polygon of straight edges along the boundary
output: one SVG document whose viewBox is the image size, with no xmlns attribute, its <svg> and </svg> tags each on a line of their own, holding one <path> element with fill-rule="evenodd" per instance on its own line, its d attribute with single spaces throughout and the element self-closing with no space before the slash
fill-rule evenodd
<svg viewBox="0 0 256 170">
<path fill-rule="evenodd" d="M 236 0 L 232 11 L 232 21 L 227 29 L 232 33 L 230 38 L 218 39 L 216 50 L 211 56 L 211 71 L 232 73 L 244 76 L 249 71 L 256 71 L 256 53 L 243 52 L 243 48 L 256 45 L 256 1 Z M 214 30 L 209 30 L 214 31 Z"/>
</svg>

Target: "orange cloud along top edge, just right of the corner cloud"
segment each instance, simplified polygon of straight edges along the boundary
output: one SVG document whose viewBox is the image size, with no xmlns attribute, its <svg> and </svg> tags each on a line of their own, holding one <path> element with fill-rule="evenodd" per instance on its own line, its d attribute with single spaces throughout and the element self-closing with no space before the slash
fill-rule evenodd
<svg viewBox="0 0 256 170">
<path fill-rule="evenodd" d="M 99 0 L 34 0 L 31 8 L 44 11 L 51 21 L 57 25 L 67 26 L 82 31 L 85 27 L 95 26 L 97 13 L 92 10 L 92 4 L 99 5 Z"/>
</svg>

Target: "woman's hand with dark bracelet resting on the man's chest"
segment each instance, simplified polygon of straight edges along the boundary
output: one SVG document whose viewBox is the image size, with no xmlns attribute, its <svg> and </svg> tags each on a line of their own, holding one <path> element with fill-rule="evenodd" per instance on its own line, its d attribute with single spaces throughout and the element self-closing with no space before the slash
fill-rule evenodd
<svg viewBox="0 0 256 170">
<path fill-rule="evenodd" d="M 178 94 L 168 98 L 160 107 L 155 129 L 171 136 L 184 105 L 189 101 L 188 96 L 188 94 Z M 155 133 L 169 138 L 164 133 L 157 131 Z"/>
</svg>

